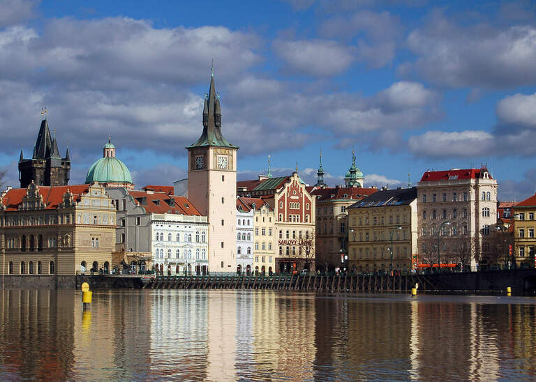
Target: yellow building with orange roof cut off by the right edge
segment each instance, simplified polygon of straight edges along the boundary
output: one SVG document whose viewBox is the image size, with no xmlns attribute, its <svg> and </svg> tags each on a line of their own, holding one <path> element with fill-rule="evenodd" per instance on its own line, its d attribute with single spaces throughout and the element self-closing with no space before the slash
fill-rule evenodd
<svg viewBox="0 0 536 382">
<path fill-rule="evenodd" d="M 512 207 L 516 266 L 535 266 L 536 194 Z"/>
</svg>

